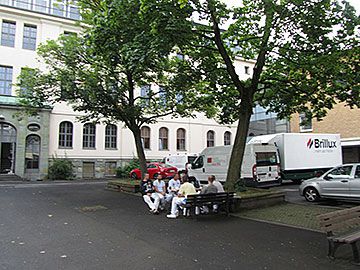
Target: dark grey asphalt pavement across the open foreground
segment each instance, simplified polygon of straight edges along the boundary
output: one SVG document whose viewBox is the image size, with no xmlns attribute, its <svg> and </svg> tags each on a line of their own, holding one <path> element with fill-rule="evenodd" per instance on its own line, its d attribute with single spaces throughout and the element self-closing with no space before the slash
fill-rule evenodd
<svg viewBox="0 0 360 270">
<path fill-rule="evenodd" d="M 169 220 L 104 184 L 0 187 L 0 269 L 358 269 L 324 234 L 236 217 Z"/>
</svg>

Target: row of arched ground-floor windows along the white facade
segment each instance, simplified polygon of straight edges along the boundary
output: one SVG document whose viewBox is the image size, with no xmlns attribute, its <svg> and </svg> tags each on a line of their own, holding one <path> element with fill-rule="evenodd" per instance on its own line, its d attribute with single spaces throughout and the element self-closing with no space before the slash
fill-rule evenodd
<svg viewBox="0 0 360 270">
<path fill-rule="evenodd" d="M 73 147 L 74 126 L 69 121 L 61 122 L 59 125 L 59 148 Z M 151 130 L 149 127 L 141 128 L 141 140 L 144 149 L 150 149 Z M 96 125 L 92 123 L 83 126 L 83 148 L 95 149 L 96 143 Z M 231 144 L 231 132 L 224 133 L 224 145 Z M 206 146 L 215 146 L 215 131 L 209 130 L 206 133 Z M 105 149 L 117 148 L 117 126 L 108 124 L 105 127 Z M 169 150 L 169 129 L 162 127 L 159 129 L 159 150 Z M 186 150 L 186 130 L 178 128 L 176 131 L 176 150 Z"/>
</svg>

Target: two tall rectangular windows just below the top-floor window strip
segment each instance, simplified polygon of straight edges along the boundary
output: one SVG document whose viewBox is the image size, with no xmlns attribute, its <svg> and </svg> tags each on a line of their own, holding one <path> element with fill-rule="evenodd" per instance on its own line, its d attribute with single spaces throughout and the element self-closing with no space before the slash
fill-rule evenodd
<svg viewBox="0 0 360 270">
<path fill-rule="evenodd" d="M 1 25 L 0 44 L 7 47 L 15 47 L 16 22 L 3 20 Z M 24 24 L 22 48 L 26 50 L 36 49 L 37 26 Z"/>
</svg>

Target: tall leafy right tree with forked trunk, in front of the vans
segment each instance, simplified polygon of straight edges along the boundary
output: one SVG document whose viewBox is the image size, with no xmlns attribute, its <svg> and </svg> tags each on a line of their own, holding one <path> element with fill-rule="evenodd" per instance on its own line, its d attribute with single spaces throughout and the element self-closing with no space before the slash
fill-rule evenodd
<svg viewBox="0 0 360 270">
<path fill-rule="evenodd" d="M 281 118 L 305 112 L 321 119 L 337 102 L 359 108 L 359 17 L 346 1 L 179 2 L 192 9 L 192 34 L 181 49 L 203 75 L 198 103 L 219 108 L 221 123 L 238 121 L 229 189 L 240 178 L 256 104 Z M 255 60 L 249 79 L 236 68 L 239 59 Z"/>
</svg>

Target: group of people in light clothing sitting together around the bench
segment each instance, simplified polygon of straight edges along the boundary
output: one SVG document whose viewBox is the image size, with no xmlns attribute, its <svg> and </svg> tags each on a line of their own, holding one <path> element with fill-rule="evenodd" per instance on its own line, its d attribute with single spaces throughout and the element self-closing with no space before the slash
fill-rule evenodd
<svg viewBox="0 0 360 270">
<path fill-rule="evenodd" d="M 186 197 L 191 194 L 208 194 L 224 192 L 222 184 L 215 179 L 214 175 L 208 177 L 208 184 L 202 188 L 195 188 L 194 184 L 188 181 L 187 175 L 183 175 L 180 181 L 178 173 L 169 181 L 166 187 L 165 181 L 161 175 L 156 180 L 150 179 L 149 174 L 145 174 L 141 181 L 140 191 L 143 195 L 145 203 L 149 206 L 150 212 L 158 214 L 159 211 L 165 210 L 166 204 L 171 204 L 170 214 L 168 218 L 177 218 L 179 210 L 186 204 Z M 214 208 L 216 210 L 216 208 Z M 196 209 L 199 212 L 199 209 Z M 202 211 L 208 211 L 204 208 Z"/>
</svg>

